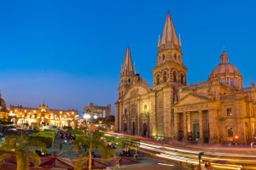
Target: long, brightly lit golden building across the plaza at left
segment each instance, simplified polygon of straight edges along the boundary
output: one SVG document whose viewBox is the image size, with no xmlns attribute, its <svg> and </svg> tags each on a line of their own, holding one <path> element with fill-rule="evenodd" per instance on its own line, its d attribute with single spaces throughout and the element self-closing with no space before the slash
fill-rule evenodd
<svg viewBox="0 0 256 170">
<path fill-rule="evenodd" d="M 38 108 L 10 105 L 9 119 L 15 125 L 41 126 L 54 125 L 60 127 L 76 127 L 79 118 L 77 110 L 54 110 L 47 105 Z"/>
</svg>

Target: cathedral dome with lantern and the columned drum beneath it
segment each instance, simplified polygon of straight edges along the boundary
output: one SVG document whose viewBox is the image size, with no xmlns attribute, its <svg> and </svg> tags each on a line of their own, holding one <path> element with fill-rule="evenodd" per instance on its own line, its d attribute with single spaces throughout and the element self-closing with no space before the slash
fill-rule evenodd
<svg viewBox="0 0 256 170">
<path fill-rule="evenodd" d="M 230 86 L 231 88 L 241 88 L 242 87 L 242 76 L 240 71 L 235 65 L 231 65 L 229 62 L 229 55 L 223 52 L 220 55 L 220 64 L 215 67 L 209 77 L 212 79 L 214 77 L 220 78 L 223 84 Z"/>
</svg>

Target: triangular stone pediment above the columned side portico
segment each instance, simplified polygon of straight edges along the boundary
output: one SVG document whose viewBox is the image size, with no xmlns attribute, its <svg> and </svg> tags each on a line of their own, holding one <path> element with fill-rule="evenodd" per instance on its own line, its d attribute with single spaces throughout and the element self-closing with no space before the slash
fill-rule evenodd
<svg viewBox="0 0 256 170">
<path fill-rule="evenodd" d="M 177 104 L 175 104 L 173 107 L 178 106 L 184 106 L 184 105 L 196 105 L 196 104 L 203 104 L 207 102 L 211 102 L 212 99 L 209 99 L 207 97 L 199 96 L 196 94 L 188 94 L 183 97 L 183 99 L 180 99 Z"/>
</svg>

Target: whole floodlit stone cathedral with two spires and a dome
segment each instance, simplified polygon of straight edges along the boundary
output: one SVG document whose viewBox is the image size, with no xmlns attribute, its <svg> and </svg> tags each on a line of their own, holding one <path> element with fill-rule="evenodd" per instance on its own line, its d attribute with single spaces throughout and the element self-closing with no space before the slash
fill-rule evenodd
<svg viewBox="0 0 256 170">
<path fill-rule="evenodd" d="M 136 73 L 131 50 L 126 48 L 115 102 L 115 132 L 184 143 L 251 142 L 256 123 L 254 82 L 242 87 L 242 75 L 224 51 L 207 81 L 187 85 L 181 47 L 167 14 L 153 88 Z"/>
</svg>

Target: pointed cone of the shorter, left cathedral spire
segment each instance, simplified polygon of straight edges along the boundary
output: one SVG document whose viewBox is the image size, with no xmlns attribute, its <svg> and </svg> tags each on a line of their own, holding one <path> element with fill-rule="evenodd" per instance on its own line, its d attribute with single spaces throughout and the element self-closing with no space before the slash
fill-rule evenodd
<svg viewBox="0 0 256 170">
<path fill-rule="evenodd" d="M 135 68 L 131 60 L 131 51 L 129 46 L 126 48 L 126 51 L 125 51 L 125 60 L 122 65 L 121 75 L 125 75 L 125 76 L 135 75 Z"/>
</svg>

